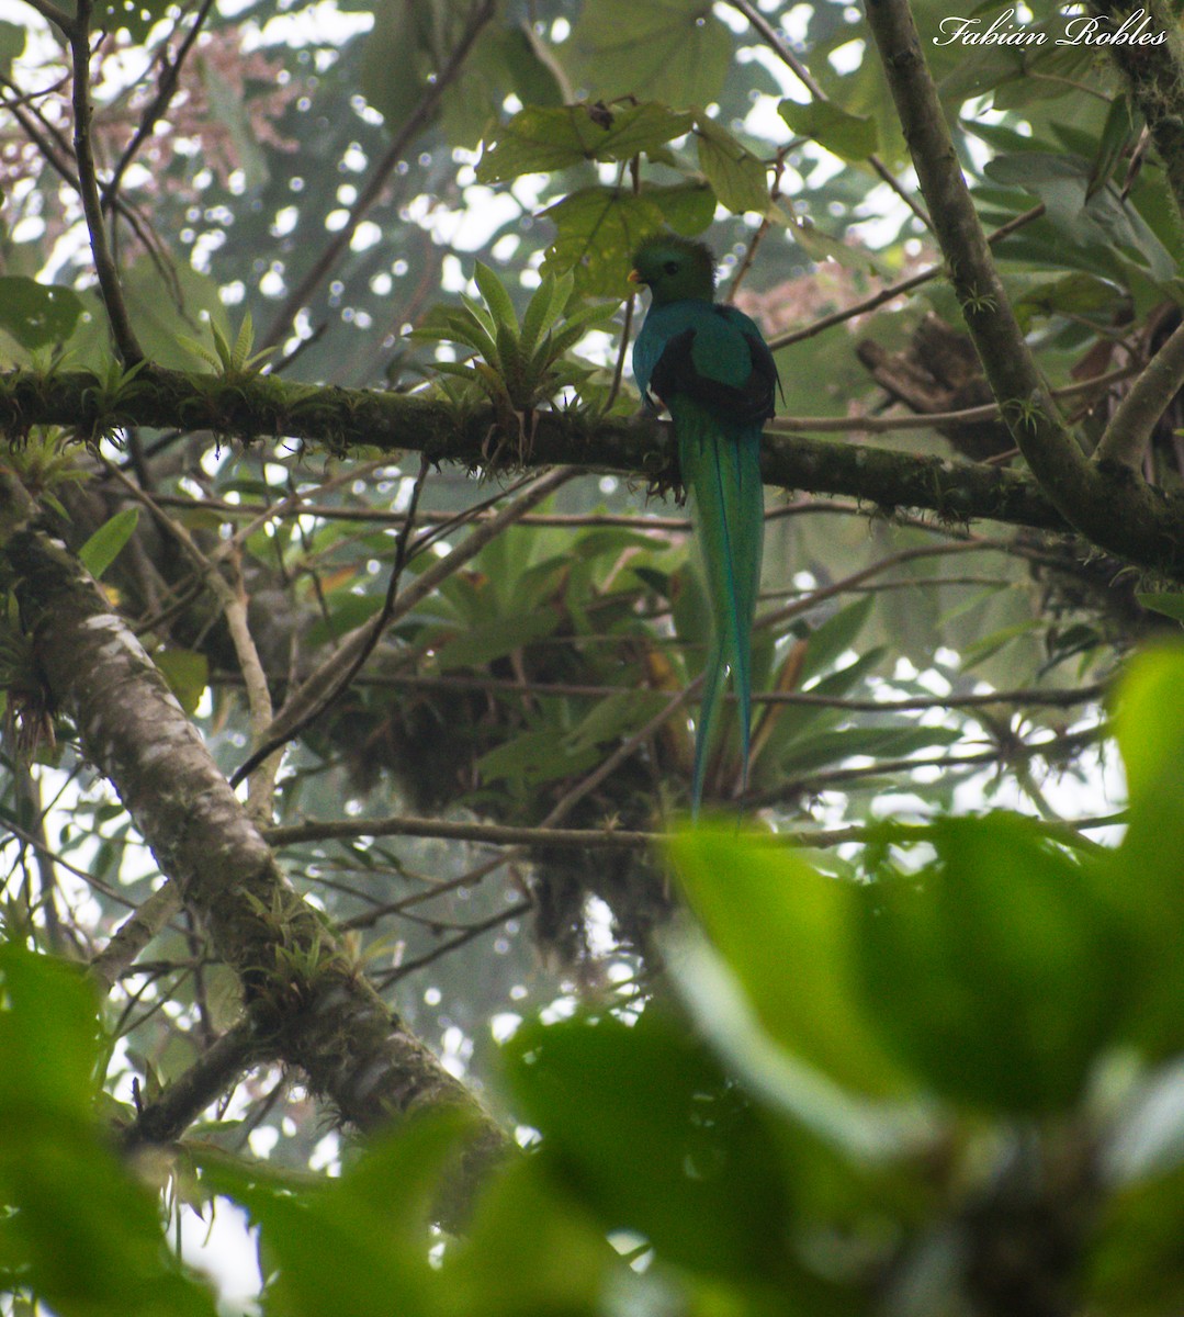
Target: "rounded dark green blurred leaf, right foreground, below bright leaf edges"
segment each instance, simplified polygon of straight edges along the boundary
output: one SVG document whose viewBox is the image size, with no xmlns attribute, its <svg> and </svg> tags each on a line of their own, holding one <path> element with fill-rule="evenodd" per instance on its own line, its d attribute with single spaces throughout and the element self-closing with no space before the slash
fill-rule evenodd
<svg viewBox="0 0 1184 1317">
<path fill-rule="evenodd" d="M 1033 819 L 940 819 L 936 861 L 861 889 L 864 1001 L 900 1059 L 980 1110 L 1067 1110 L 1121 1033 L 1130 944 Z"/>
</svg>

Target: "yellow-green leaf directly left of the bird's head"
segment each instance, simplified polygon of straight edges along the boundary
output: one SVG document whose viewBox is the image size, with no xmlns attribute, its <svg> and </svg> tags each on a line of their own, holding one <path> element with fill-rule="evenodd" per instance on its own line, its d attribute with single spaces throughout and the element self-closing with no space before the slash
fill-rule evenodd
<svg viewBox="0 0 1184 1317">
<path fill-rule="evenodd" d="M 662 227 L 662 212 L 644 196 L 586 187 L 543 212 L 556 227 L 544 273 L 576 278 L 579 292 L 623 296 L 633 291 L 630 261 L 643 238 Z"/>
</svg>

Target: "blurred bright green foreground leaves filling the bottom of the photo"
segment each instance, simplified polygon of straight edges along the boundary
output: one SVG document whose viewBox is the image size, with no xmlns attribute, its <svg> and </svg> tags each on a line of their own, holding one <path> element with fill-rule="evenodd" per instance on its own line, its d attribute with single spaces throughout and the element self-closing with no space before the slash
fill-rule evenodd
<svg viewBox="0 0 1184 1317">
<path fill-rule="evenodd" d="M 1006 813 L 884 824 L 873 881 L 853 882 L 767 834 L 677 838 L 699 925 L 669 947 L 685 1015 L 518 1031 L 506 1101 L 537 1142 L 464 1239 L 429 1227 L 471 1133 L 450 1112 L 317 1187 L 200 1139 L 169 1173 L 199 1212 L 246 1210 L 267 1314 L 935 1310 L 915 1292 L 1002 1312 L 982 1262 L 1006 1241 L 1009 1301 L 1175 1310 L 1184 715 L 1164 697 L 1181 680 L 1184 653 L 1160 651 L 1118 694 L 1131 799 L 1113 848 Z M 65 1317 L 212 1310 L 109 1151 L 82 981 L 8 946 L 0 989 L 3 1284 Z M 1040 1222 L 1033 1247 L 1017 1218 Z M 952 1258 L 932 1247 L 947 1235 Z"/>
</svg>

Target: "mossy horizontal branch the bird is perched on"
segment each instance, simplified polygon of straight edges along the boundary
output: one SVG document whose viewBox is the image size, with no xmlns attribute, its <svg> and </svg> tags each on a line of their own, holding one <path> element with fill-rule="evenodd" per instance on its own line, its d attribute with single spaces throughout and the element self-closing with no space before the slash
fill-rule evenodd
<svg viewBox="0 0 1184 1317">
<path fill-rule="evenodd" d="M 527 427 L 528 445 L 519 452 L 518 436 L 499 449 L 493 412 L 485 408 L 461 411 L 420 394 L 317 387 L 274 377 L 224 381 L 158 367 L 141 371 L 113 399 L 104 398 L 86 371 L 0 375 L 0 428 L 20 439 L 34 425 L 63 425 L 87 440 L 128 425 L 208 429 L 244 443 L 288 439 L 341 454 L 365 444 L 390 453 L 420 452 L 433 462 L 470 470 L 489 470 L 500 453 L 498 460 L 507 465 L 578 465 L 655 483 L 677 475 L 665 421 L 539 412 Z M 851 428 L 857 429 L 859 421 Z M 1034 481 L 1004 468 L 768 432 L 761 474 L 767 485 L 847 495 L 880 510 L 919 508 L 950 522 L 989 519 L 1068 529 Z"/>
</svg>

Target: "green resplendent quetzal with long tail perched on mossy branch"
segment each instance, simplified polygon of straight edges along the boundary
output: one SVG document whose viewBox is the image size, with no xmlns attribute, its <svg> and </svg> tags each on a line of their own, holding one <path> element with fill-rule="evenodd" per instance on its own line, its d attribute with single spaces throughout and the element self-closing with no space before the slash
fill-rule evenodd
<svg viewBox="0 0 1184 1317">
<path fill-rule="evenodd" d="M 760 436 L 773 415 L 777 367 L 756 324 L 735 307 L 713 302 L 715 257 L 703 244 L 673 234 L 647 238 L 630 279 L 645 284 L 653 299 L 633 344 L 633 375 L 641 398 L 651 406 L 660 398 L 674 420 L 711 599 L 711 652 L 691 780 L 691 811 L 698 813 L 728 670 L 740 703 L 748 785 L 752 618 L 764 544 Z"/>
</svg>

